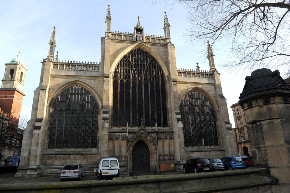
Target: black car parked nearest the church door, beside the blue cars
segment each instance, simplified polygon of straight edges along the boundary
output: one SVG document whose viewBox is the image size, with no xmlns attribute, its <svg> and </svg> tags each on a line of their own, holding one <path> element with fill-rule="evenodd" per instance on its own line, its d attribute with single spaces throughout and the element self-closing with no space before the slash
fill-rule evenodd
<svg viewBox="0 0 290 193">
<path fill-rule="evenodd" d="M 202 158 L 194 158 L 188 160 L 183 165 L 183 172 L 211 172 L 213 171 L 213 166 L 211 165 L 210 161 L 208 159 L 202 159 Z"/>
</svg>

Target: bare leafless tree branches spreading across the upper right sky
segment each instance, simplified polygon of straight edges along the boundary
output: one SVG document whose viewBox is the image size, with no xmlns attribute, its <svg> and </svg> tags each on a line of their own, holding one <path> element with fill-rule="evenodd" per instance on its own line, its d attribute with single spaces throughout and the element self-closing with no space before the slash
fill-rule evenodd
<svg viewBox="0 0 290 193">
<path fill-rule="evenodd" d="M 191 27 L 188 41 L 221 41 L 230 47 L 223 67 L 253 71 L 280 68 L 289 72 L 290 0 L 176 0 Z M 232 58 L 236 60 L 232 61 Z"/>
</svg>

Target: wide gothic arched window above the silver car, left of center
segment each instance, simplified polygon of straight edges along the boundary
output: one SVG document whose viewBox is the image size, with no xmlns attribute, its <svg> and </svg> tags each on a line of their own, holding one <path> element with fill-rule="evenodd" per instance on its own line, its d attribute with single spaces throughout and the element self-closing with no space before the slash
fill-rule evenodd
<svg viewBox="0 0 290 193">
<path fill-rule="evenodd" d="M 67 88 L 50 107 L 49 149 L 97 148 L 99 106 L 86 88 Z"/>
</svg>

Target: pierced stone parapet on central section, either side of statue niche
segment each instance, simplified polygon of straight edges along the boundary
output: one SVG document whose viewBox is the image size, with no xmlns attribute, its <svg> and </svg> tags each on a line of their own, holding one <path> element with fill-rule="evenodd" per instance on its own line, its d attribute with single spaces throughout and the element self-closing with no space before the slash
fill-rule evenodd
<svg viewBox="0 0 290 193">
<path fill-rule="evenodd" d="M 111 39 L 113 40 L 127 40 L 127 41 L 135 41 L 134 32 L 122 32 L 122 31 L 112 31 Z M 145 42 L 150 43 L 166 43 L 166 38 L 164 36 L 155 36 L 155 35 L 145 35 Z"/>
</svg>

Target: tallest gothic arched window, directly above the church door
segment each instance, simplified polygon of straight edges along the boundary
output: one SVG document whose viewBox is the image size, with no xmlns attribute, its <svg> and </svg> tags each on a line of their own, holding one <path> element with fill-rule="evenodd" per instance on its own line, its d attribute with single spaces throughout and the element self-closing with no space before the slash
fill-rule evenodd
<svg viewBox="0 0 290 193">
<path fill-rule="evenodd" d="M 126 54 L 113 76 L 112 126 L 167 127 L 165 76 L 155 58 L 137 48 Z"/>
</svg>

